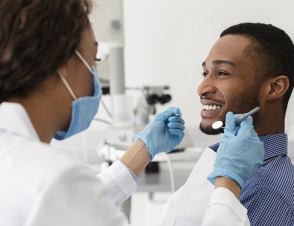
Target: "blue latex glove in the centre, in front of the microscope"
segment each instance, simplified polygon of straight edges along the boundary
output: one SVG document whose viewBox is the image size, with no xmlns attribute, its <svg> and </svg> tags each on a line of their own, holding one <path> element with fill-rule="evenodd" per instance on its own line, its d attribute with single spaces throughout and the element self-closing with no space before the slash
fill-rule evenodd
<svg viewBox="0 0 294 226">
<path fill-rule="evenodd" d="M 151 154 L 151 160 L 160 152 L 170 152 L 178 146 L 185 136 L 185 121 L 176 114 L 179 108 L 170 107 L 154 117 L 144 130 L 132 137 L 132 141 L 140 138 Z"/>
</svg>

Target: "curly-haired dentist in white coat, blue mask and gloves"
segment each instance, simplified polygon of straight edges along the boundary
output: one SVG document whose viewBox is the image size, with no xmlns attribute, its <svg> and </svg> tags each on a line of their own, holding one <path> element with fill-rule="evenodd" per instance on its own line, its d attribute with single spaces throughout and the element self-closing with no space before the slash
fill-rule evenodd
<svg viewBox="0 0 294 226">
<path fill-rule="evenodd" d="M 134 193 L 150 160 L 184 137 L 184 120 L 175 116 L 180 109 L 171 107 L 98 175 L 50 146 L 53 138 L 87 129 L 98 110 L 98 43 L 90 10 L 90 0 L 0 3 L 0 225 L 126 225 L 117 206 Z M 244 130 L 253 130 L 246 122 Z M 253 150 L 251 135 L 247 147 Z M 222 177 L 233 181 L 238 193 L 234 177 L 220 171 L 213 175 L 216 186 Z"/>
</svg>

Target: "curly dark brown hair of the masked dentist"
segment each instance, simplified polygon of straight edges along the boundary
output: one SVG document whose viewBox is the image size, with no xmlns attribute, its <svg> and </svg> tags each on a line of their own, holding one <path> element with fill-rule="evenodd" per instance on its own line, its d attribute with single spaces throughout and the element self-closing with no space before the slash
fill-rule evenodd
<svg viewBox="0 0 294 226">
<path fill-rule="evenodd" d="M 91 0 L 0 1 L 0 103 L 26 97 L 74 54 Z"/>
</svg>

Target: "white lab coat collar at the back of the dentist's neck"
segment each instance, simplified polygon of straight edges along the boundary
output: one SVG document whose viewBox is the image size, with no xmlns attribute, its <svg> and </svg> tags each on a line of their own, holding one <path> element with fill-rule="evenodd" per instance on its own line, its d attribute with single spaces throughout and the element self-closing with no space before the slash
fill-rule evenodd
<svg viewBox="0 0 294 226">
<path fill-rule="evenodd" d="M 0 104 L 0 130 L 40 141 L 26 109 L 19 103 Z"/>
</svg>

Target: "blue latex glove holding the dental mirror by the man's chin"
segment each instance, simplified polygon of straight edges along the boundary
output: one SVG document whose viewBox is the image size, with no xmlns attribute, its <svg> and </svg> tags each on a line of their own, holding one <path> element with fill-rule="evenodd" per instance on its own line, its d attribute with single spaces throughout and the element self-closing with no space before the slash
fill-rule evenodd
<svg viewBox="0 0 294 226">
<path fill-rule="evenodd" d="M 262 164 L 263 143 L 253 129 L 253 119 L 249 116 L 236 125 L 235 117 L 228 112 L 226 127 L 221 138 L 213 172 L 207 179 L 214 184 L 215 178 L 224 176 L 235 180 L 243 188 L 244 181 Z"/>
</svg>

